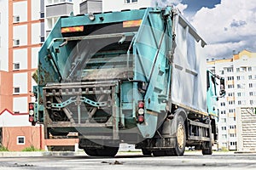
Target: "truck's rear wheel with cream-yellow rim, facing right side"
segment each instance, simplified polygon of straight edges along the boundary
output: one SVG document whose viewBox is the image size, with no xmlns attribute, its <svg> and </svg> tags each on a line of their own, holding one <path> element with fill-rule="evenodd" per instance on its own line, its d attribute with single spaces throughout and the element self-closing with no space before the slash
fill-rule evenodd
<svg viewBox="0 0 256 170">
<path fill-rule="evenodd" d="M 186 127 L 183 116 L 177 116 L 176 139 L 174 142 L 173 156 L 183 156 L 186 146 Z M 171 153 L 171 152 L 170 152 Z"/>
</svg>

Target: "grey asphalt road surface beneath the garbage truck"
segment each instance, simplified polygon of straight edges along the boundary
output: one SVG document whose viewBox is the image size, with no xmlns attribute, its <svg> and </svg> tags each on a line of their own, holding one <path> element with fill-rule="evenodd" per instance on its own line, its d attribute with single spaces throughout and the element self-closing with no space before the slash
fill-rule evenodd
<svg viewBox="0 0 256 170">
<path fill-rule="evenodd" d="M 185 153 L 184 156 L 145 157 L 140 152 L 118 153 L 113 158 L 79 156 L 16 156 L 0 157 L 0 169 L 256 169 L 256 154 L 213 153 L 202 156 L 199 152 Z"/>
</svg>

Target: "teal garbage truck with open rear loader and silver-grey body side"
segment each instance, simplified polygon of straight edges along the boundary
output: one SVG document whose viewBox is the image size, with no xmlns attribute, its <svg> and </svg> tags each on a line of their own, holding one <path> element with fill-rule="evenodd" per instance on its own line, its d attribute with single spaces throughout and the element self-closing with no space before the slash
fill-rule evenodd
<svg viewBox="0 0 256 170">
<path fill-rule="evenodd" d="M 38 53 L 29 121 L 44 137 L 78 133 L 89 156 L 135 144 L 145 156 L 212 154 L 224 79 L 177 8 L 61 16 Z"/>
</svg>

